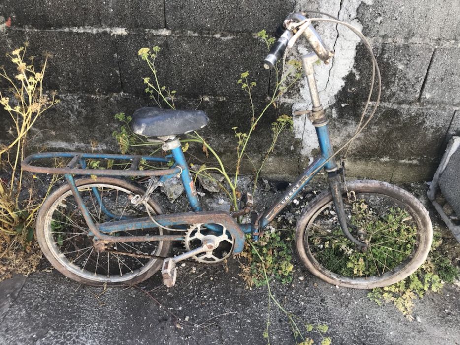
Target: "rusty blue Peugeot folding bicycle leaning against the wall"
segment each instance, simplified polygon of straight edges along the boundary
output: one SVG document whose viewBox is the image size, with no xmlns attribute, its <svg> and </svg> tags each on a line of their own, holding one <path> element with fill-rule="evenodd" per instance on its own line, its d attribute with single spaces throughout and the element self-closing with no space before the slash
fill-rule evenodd
<svg viewBox="0 0 460 345">
<path fill-rule="evenodd" d="M 345 25 L 363 40 L 373 61 L 368 104 L 375 76 L 379 83 L 373 112 L 363 122 L 367 104 L 355 135 L 335 152 L 314 75 L 314 64 L 318 60 L 327 63 L 333 52 L 315 31 L 315 21 Z M 315 197 L 296 224 L 297 253 L 310 272 L 331 284 L 368 289 L 393 284 L 416 271 L 427 258 L 432 242 L 427 210 L 410 193 L 389 183 L 347 182 L 344 165 L 339 166 L 335 159 L 361 133 L 378 106 L 380 72 L 370 45 L 349 24 L 333 17 L 309 19 L 305 12 L 289 14 L 277 33 L 278 40 L 264 60 L 265 68 L 273 68 L 300 37 L 306 38 L 313 50 L 302 56 L 312 110 L 301 113 L 308 114 L 315 126 L 321 153 L 296 182 L 262 214 L 253 209 L 249 193 L 238 212 L 204 211 L 178 136 L 204 127 L 208 123 L 206 114 L 200 110 L 141 108 L 132 117 L 133 131 L 160 143 L 169 152 L 164 157 L 50 152 L 33 154 L 21 163 L 25 171 L 64 174 L 66 178 L 67 183 L 46 198 L 36 222 L 40 247 L 58 271 L 90 285 L 132 285 L 161 269 L 164 284 L 171 287 L 180 261 L 222 262 L 242 252 L 247 234 L 257 241 L 323 168 L 329 190 Z M 66 159 L 68 164 L 43 166 L 47 159 Z M 91 159 L 129 162 L 130 167 L 95 169 L 88 167 Z M 141 170 L 142 161 L 169 166 Z M 92 176 L 76 179 L 74 175 Z M 149 177 L 147 188 L 121 178 L 129 176 Z M 175 176 L 181 179 L 192 211 L 162 214 L 152 193 Z M 248 217 L 250 221 L 239 222 Z M 184 242 L 186 252 L 169 257 L 172 241 Z"/>
</svg>

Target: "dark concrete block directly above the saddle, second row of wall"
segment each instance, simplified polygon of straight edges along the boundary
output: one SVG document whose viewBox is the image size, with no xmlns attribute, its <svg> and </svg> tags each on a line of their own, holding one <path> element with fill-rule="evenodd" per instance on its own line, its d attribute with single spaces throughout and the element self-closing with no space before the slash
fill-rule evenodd
<svg viewBox="0 0 460 345">
<path fill-rule="evenodd" d="M 237 80 L 246 70 L 250 72 L 248 79 L 257 83 L 253 95 L 268 92 L 269 72 L 262 67 L 266 47 L 251 35 L 225 39 L 143 33 L 118 36 L 117 41 L 124 92 L 145 94 L 142 78 L 153 80 L 153 74 L 137 51 L 155 45 L 162 48 L 156 59 L 160 84 L 176 90 L 178 96 L 245 98 Z"/>
</svg>

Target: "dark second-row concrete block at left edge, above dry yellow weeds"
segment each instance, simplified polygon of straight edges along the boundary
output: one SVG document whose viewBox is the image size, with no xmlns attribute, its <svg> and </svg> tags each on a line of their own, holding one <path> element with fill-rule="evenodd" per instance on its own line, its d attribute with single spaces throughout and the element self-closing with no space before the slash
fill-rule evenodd
<svg viewBox="0 0 460 345">
<path fill-rule="evenodd" d="M 115 42 L 109 34 L 93 35 L 63 31 L 8 30 L 0 37 L 0 65 L 14 73 L 6 52 L 29 42 L 28 54 L 41 60 L 52 58 L 45 75 L 45 88 L 60 93 L 120 92 Z M 11 69 L 13 68 L 13 69 Z"/>
</svg>

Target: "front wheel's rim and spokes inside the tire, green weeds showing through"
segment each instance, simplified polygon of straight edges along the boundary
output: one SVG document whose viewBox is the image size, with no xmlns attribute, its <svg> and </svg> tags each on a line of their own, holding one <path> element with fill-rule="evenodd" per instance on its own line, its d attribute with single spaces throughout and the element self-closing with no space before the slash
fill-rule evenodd
<svg viewBox="0 0 460 345">
<path fill-rule="evenodd" d="M 394 276 L 414 259 L 420 236 L 414 210 L 379 193 L 357 193 L 356 202 L 344 198 L 349 230 L 364 233 L 368 250 L 360 253 L 345 238 L 330 200 L 310 218 L 304 234 L 306 255 L 324 275 L 353 285 Z M 329 224 L 325 220 L 331 218 Z"/>
</svg>

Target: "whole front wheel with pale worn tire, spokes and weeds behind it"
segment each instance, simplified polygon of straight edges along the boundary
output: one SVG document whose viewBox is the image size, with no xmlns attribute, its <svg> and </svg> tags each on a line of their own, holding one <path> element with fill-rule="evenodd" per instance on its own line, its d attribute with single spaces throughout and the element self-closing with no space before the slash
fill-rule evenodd
<svg viewBox="0 0 460 345">
<path fill-rule="evenodd" d="M 357 180 L 343 193 L 348 228 L 368 248 L 359 251 L 342 232 L 330 191 L 318 195 L 296 225 L 300 259 L 334 285 L 371 289 L 394 284 L 425 261 L 433 238 L 428 212 L 410 193 L 389 183 Z"/>
</svg>

